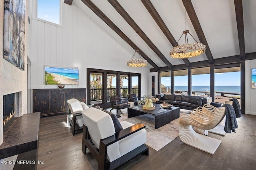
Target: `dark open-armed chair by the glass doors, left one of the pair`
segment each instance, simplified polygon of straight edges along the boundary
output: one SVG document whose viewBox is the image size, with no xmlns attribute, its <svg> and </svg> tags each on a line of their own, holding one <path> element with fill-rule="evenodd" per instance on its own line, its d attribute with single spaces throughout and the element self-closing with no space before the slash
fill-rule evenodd
<svg viewBox="0 0 256 170">
<path fill-rule="evenodd" d="M 115 95 L 115 96 L 111 96 L 110 97 L 110 104 L 111 104 L 111 110 L 116 109 L 117 111 L 117 117 L 120 117 L 120 115 L 118 115 L 118 109 L 125 109 L 128 108 L 130 105 L 128 103 L 128 98 L 123 99 L 121 98 L 120 95 Z"/>
</svg>

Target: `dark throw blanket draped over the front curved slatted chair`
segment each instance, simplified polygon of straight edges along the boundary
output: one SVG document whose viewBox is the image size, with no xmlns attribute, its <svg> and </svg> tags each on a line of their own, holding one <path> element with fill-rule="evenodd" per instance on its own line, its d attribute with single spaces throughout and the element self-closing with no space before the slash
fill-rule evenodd
<svg viewBox="0 0 256 170">
<path fill-rule="evenodd" d="M 236 113 L 233 106 L 230 104 L 224 104 L 222 107 L 226 107 L 226 121 L 224 131 L 226 133 L 231 133 L 231 131 L 235 132 L 236 128 L 238 128 L 238 125 L 236 122 Z"/>
</svg>

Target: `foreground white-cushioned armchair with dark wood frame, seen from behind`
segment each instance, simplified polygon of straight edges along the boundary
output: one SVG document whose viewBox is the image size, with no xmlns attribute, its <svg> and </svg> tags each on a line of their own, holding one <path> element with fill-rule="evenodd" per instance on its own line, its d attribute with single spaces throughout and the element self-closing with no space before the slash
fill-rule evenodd
<svg viewBox="0 0 256 170">
<path fill-rule="evenodd" d="M 148 155 L 145 125 L 122 121 L 123 130 L 116 132 L 114 118 L 104 111 L 91 107 L 82 111 L 82 116 L 86 124 L 82 151 L 86 154 L 86 149 L 90 150 L 98 161 L 98 169 L 115 169 L 138 154 Z"/>
</svg>

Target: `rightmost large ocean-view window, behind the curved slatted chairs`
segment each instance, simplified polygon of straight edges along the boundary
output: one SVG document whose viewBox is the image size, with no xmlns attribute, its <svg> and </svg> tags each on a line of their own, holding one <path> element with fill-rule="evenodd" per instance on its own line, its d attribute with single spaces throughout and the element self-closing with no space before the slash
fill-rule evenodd
<svg viewBox="0 0 256 170">
<path fill-rule="evenodd" d="M 214 69 L 215 102 L 225 103 L 230 98 L 240 102 L 240 66 Z"/>
</svg>

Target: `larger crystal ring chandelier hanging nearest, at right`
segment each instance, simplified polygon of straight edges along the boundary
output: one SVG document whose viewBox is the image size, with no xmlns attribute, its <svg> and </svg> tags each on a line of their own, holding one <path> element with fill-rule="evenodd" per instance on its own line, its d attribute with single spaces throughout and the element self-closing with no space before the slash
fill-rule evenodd
<svg viewBox="0 0 256 170">
<path fill-rule="evenodd" d="M 186 20 L 186 29 L 187 29 L 186 13 L 185 13 L 185 20 Z M 178 42 L 180 41 L 179 39 L 176 44 L 178 46 L 175 45 L 174 48 L 171 49 L 170 57 L 174 59 L 186 59 L 190 57 L 196 57 L 198 55 L 205 53 L 205 45 L 203 45 L 202 43 L 198 43 L 190 33 L 189 34 L 196 41 L 196 43 L 188 43 L 188 33 L 189 33 L 189 30 L 185 30 L 182 32 L 182 35 L 185 34 L 185 44 L 178 45 Z M 180 36 L 180 38 L 182 37 L 182 35 Z"/>
</svg>

